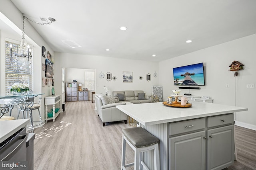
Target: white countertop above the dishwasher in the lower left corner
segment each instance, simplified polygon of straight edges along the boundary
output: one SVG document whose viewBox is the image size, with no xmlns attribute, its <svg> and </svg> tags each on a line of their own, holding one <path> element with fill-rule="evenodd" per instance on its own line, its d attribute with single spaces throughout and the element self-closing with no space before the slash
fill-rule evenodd
<svg viewBox="0 0 256 170">
<path fill-rule="evenodd" d="M 30 122 L 30 119 L 0 121 L 0 143 Z"/>
</svg>

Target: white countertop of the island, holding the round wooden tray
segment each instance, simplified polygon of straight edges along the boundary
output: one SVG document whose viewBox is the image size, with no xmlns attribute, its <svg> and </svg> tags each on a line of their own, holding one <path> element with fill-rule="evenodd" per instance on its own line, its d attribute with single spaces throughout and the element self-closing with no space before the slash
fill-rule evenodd
<svg viewBox="0 0 256 170">
<path fill-rule="evenodd" d="M 245 107 L 205 102 L 190 101 L 190 103 L 192 103 L 192 107 L 187 108 L 165 106 L 162 102 L 118 105 L 116 107 L 145 126 L 248 110 Z"/>
</svg>

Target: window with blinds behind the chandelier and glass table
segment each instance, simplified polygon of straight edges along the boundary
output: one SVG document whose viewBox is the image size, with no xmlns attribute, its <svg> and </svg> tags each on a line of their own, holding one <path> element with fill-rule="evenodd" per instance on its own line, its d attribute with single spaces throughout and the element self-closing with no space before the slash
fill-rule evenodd
<svg viewBox="0 0 256 170">
<path fill-rule="evenodd" d="M 12 48 L 10 47 L 12 45 Z M 5 84 L 6 94 L 16 82 L 27 83 L 33 91 L 33 49 L 26 57 L 18 56 L 18 44 L 5 42 Z"/>
</svg>

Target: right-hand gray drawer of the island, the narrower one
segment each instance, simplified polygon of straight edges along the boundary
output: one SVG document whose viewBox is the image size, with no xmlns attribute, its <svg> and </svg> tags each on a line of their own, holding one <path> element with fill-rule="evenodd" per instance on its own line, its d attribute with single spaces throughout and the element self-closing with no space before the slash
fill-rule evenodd
<svg viewBox="0 0 256 170">
<path fill-rule="evenodd" d="M 220 125 L 226 125 L 234 122 L 234 115 L 228 114 L 228 115 L 218 115 L 213 117 L 207 118 L 207 127 L 214 127 L 214 126 L 220 126 Z"/>
</svg>

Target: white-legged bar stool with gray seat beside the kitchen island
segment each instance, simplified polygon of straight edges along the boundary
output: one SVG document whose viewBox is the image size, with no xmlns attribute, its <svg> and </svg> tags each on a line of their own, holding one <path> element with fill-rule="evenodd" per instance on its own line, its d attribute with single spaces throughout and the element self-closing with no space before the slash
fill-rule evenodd
<svg viewBox="0 0 256 170">
<path fill-rule="evenodd" d="M 143 162 L 142 152 L 154 150 L 154 170 L 160 170 L 159 162 L 159 139 L 154 135 L 147 132 L 142 127 L 132 127 L 122 129 L 122 159 L 121 170 L 125 170 L 126 167 L 134 165 L 134 170 L 142 170 L 142 166 L 149 170 L 146 164 Z M 126 143 L 134 150 L 134 162 L 125 164 L 125 150 Z"/>
</svg>

